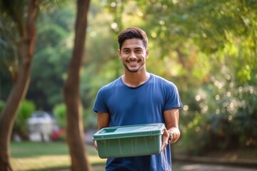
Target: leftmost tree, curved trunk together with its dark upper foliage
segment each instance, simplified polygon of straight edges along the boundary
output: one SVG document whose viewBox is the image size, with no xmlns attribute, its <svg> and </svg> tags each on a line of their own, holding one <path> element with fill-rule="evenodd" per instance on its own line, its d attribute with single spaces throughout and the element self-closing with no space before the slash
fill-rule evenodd
<svg viewBox="0 0 257 171">
<path fill-rule="evenodd" d="M 57 2 L 41 2 L 40 10 L 47 10 L 52 7 L 51 4 Z M 0 115 L 0 170 L 3 171 L 12 170 L 9 162 L 9 142 L 16 112 L 30 83 L 38 11 L 37 0 L 0 1 L 1 61 L 4 61 L 4 66 L 10 71 L 13 81 L 11 93 Z"/>
</svg>

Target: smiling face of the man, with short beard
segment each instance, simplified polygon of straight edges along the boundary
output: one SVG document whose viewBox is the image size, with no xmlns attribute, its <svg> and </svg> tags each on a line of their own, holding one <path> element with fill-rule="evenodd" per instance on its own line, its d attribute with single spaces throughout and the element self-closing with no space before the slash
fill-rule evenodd
<svg viewBox="0 0 257 171">
<path fill-rule="evenodd" d="M 127 39 L 119 50 L 119 57 L 128 71 L 136 73 L 146 66 L 148 49 L 139 38 Z"/>
</svg>

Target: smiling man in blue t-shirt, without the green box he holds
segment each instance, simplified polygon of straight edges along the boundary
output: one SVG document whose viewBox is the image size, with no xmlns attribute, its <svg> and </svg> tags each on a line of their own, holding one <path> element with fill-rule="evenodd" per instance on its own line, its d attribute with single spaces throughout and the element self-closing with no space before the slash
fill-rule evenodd
<svg viewBox="0 0 257 171">
<path fill-rule="evenodd" d="M 178 109 L 182 107 L 176 86 L 146 71 L 148 38 L 140 28 L 126 28 L 118 36 L 119 58 L 124 75 L 103 86 L 93 110 L 99 130 L 110 126 L 165 123 L 161 153 L 136 157 L 108 158 L 106 170 L 170 171 L 170 143 L 180 136 Z M 97 149 L 97 144 L 95 142 Z"/>
</svg>

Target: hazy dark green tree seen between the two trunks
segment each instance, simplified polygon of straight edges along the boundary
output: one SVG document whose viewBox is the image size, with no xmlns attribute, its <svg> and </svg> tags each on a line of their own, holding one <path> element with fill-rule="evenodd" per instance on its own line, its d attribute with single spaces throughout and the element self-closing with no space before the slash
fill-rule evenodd
<svg viewBox="0 0 257 171">
<path fill-rule="evenodd" d="M 34 100 L 36 107 L 51 112 L 54 105 L 63 103 L 66 68 L 72 50 L 72 36 L 76 9 L 72 3 L 54 14 L 44 14 L 38 20 L 38 39 L 31 73 L 31 86 L 26 98 Z"/>
</svg>

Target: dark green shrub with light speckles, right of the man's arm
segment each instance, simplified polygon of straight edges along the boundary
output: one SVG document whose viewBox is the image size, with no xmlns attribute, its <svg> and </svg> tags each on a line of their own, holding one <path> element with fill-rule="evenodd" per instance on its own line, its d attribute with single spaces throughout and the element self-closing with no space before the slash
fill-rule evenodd
<svg viewBox="0 0 257 171">
<path fill-rule="evenodd" d="M 211 149 L 257 147 L 256 87 L 224 85 L 203 86 L 195 93 L 198 98 L 184 102 L 188 110 L 181 112 L 181 139 L 188 153 L 201 155 Z M 191 97 L 194 94 L 191 90 L 188 93 Z"/>
</svg>

